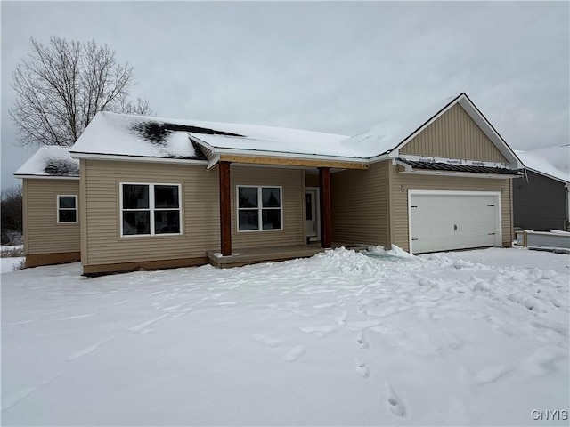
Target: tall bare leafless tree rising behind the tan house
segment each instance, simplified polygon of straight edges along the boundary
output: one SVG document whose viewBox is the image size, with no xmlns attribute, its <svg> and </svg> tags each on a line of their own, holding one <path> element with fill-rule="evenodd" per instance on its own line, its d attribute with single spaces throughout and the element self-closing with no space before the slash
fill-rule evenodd
<svg viewBox="0 0 570 427">
<path fill-rule="evenodd" d="M 12 74 L 16 101 L 10 115 L 21 145 L 73 145 L 98 111 L 152 114 L 149 102 L 128 101 L 133 68 L 94 41 L 53 36 L 45 46 L 31 39 L 32 52 Z"/>
</svg>

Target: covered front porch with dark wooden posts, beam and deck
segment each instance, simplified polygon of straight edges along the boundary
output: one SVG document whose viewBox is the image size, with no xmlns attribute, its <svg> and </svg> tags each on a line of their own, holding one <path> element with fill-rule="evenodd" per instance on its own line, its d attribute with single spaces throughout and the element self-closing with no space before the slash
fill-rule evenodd
<svg viewBox="0 0 570 427">
<path fill-rule="evenodd" d="M 218 267 L 313 256 L 334 247 L 330 170 L 368 167 L 354 161 L 239 155 L 219 155 L 210 165 L 218 169 L 220 250 L 208 253 L 208 261 Z M 305 181 L 307 169 L 318 173 L 318 181 Z M 311 234 L 309 228 L 318 232 Z"/>
</svg>

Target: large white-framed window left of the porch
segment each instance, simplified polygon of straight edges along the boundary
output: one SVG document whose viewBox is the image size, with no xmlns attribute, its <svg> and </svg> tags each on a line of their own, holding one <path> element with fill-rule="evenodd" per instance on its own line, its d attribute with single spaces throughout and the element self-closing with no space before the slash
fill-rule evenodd
<svg viewBox="0 0 570 427">
<path fill-rule="evenodd" d="M 120 184 L 121 236 L 182 234 L 180 184 Z"/>
</svg>

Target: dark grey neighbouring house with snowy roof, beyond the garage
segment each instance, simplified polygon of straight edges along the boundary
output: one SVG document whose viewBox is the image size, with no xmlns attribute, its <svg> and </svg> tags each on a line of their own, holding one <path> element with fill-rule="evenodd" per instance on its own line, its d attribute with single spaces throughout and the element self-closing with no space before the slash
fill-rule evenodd
<svg viewBox="0 0 570 427">
<path fill-rule="evenodd" d="M 570 230 L 570 144 L 517 151 L 525 178 L 513 186 L 517 230 Z"/>
</svg>

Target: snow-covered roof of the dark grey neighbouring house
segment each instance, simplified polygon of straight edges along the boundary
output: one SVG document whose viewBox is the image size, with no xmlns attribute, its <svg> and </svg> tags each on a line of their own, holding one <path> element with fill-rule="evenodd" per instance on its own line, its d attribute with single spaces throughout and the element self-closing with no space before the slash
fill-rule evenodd
<svg viewBox="0 0 570 427">
<path fill-rule="evenodd" d="M 527 169 L 570 183 L 570 144 L 546 149 L 517 151 Z"/>
</svg>

